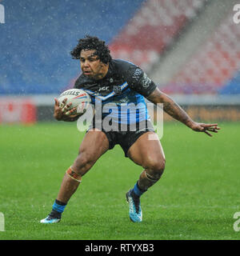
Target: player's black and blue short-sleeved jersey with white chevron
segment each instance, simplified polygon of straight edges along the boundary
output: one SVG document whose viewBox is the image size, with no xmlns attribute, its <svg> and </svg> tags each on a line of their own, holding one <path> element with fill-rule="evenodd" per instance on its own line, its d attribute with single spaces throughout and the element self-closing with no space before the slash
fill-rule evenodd
<svg viewBox="0 0 240 256">
<path fill-rule="evenodd" d="M 104 78 L 94 80 L 81 74 L 74 88 L 90 94 L 95 107 L 102 104 L 102 119 L 132 124 L 149 119 L 144 97 L 148 97 L 156 85 L 138 66 L 114 59 Z"/>
</svg>

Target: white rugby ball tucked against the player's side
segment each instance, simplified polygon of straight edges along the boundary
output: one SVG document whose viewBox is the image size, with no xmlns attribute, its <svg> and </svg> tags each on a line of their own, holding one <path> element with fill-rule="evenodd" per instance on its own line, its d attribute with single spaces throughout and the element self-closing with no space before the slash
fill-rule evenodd
<svg viewBox="0 0 240 256">
<path fill-rule="evenodd" d="M 86 91 L 82 89 L 65 90 L 60 94 L 58 102 L 61 106 L 62 101 L 67 98 L 66 104 L 72 103 L 71 108 L 77 107 L 77 113 L 82 114 L 90 106 L 91 98 Z"/>
</svg>

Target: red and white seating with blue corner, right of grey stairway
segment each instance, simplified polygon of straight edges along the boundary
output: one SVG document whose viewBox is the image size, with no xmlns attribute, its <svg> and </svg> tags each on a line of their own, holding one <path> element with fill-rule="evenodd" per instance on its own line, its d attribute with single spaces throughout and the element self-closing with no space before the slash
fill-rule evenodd
<svg viewBox="0 0 240 256">
<path fill-rule="evenodd" d="M 168 94 L 239 93 L 240 38 L 232 10 L 174 78 L 162 87 Z M 233 79 L 231 81 L 231 79 Z M 238 89 L 237 89 L 238 88 Z"/>
</svg>

